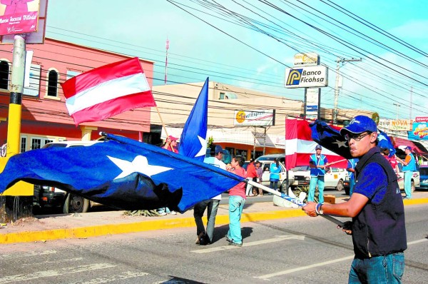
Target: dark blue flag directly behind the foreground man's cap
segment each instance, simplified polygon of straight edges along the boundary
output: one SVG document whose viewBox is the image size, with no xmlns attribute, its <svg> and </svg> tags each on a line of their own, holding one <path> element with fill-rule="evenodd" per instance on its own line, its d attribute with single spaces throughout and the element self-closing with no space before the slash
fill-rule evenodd
<svg viewBox="0 0 428 284">
<path fill-rule="evenodd" d="M 333 128 L 324 121 L 310 123 L 313 141 L 346 159 L 353 158 L 345 137 L 340 135 L 339 128 Z"/>
</svg>

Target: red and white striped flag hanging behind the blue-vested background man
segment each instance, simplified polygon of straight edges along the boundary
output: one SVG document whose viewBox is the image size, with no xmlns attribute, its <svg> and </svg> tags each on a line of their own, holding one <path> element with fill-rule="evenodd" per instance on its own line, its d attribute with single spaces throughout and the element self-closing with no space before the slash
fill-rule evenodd
<svg viewBox="0 0 428 284">
<path fill-rule="evenodd" d="M 295 166 L 308 166 L 310 155 L 315 154 L 317 142 L 312 140 L 312 130 L 308 121 L 301 119 L 285 120 L 285 158 L 287 169 Z M 322 148 L 328 163 L 337 162 L 333 167 L 347 168 L 347 160 L 327 148 Z"/>
</svg>

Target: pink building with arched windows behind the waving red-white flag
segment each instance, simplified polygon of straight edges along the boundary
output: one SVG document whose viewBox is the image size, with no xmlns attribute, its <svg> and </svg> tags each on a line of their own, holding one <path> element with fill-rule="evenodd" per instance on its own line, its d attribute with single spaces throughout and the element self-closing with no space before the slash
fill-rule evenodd
<svg viewBox="0 0 428 284">
<path fill-rule="evenodd" d="M 0 46 L 0 145 L 7 137 L 10 80 L 12 69 L 11 45 Z M 79 46 L 55 39 L 44 44 L 27 44 L 33 51 L 29 87 L 22 96 L 21 152 L 40 148 L 58 140 L 94 140 L 101 131 L 138 140 L 151 140 L 150 108 L 136 108 L 104 121 L 75 126 L 68 115 L 60 83 L 71 76 L 134 56 L 125 56 Z M 149 86 L 153 86 L 153 62 L 140 59 Z"/>
</svg>

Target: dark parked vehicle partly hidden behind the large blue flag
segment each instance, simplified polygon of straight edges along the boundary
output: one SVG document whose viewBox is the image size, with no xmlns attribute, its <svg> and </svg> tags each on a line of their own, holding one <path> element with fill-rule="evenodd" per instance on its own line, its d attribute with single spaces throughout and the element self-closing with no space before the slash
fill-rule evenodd
<svg viewBox="0 0 428 284">
<path fill-rule="evenodd" d="M 46 143 L 42 148 L 52 147 L 82 147 L 91 146 L 94 143 L 101 143 L 103 141 L 58 141 Z M 88 201 L 88 199 L 81 196 L 76 196 L 60 188 L 53 186 L 46 186 L 43 184 L 34 185 L 33 206 L 36 208 L 59 208 L 63 213 L 85 213 L 88 209 L 98 203 Z"/>
</svg>

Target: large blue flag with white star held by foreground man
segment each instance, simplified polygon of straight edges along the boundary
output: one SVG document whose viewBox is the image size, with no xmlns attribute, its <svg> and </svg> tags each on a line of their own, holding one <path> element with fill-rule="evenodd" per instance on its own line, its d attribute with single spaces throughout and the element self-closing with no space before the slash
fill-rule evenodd
<svg viewBox="0 0 428 284">
<path fill-rule="evenodd" d="M 123 210 L 184 212 L 245 181 L 233 173 L 130 138 L 106 134 L 92 146 L 42 148 L 12 156 L 0 193 L 17 181 L 55 186 Z"/>
</svg>

